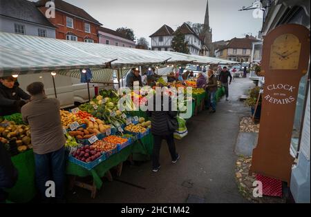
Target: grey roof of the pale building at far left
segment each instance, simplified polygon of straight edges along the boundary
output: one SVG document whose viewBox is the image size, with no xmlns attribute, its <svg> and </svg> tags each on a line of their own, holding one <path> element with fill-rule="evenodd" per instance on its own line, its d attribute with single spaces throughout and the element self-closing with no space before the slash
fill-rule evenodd
<svg viewBox="0 0 311 217">
<path fill-rule="evenodd" d="M 35 3 L 31 1 L 0 0 L 0 14 L 6 17 L 55 28 L 55 26 L 44 17 L 44 14 L 36 8 Z"/>
</svg>

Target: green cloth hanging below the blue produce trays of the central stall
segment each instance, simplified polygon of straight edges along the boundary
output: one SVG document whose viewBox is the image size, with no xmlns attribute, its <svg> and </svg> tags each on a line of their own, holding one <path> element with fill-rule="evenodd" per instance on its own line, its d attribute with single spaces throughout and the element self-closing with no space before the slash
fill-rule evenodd
<svg viewBox="0 0 311 217">
<path fill-rule="evenodd" d="M 101 178 L 106 174 L 109 169 L 119 165 L 123 161 L 126 161 L 126 159 L 129 158 L 130 154 L 134 155 L 134 160 L 142 160 L 142 156 L 148 156 L 149 154 L 151 154 L 152 149 L 153 137 L 151 134 L 149 134 L 141 139 L 141 143 L 135 141 L 135 143 L 133 143 L 132 145 L 129 145 L 128 147 L 122 149 L 120 152 L 113 154 L 108 159 L 106 159 L 106 161 L 103 161 L 91 170 L 84 169 L 83 167 L 80 167 L 79 165 L 68 161 L 66 165 L 66 174 L 81 177 L 93 176 L 93 180 L 97 189 L 100 189 L 102 187 Z"/>
</svg>

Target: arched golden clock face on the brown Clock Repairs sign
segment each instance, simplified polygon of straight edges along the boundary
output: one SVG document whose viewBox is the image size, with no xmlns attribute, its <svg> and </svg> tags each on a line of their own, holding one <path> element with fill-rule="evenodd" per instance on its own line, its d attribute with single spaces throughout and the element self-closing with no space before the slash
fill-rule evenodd
<svg viewBox="0 0 311 217">
<path fill-rule="evenodd" d="M 271 45 L 271 70 L 296 70 L 299 65 L 301 43 L 294 34 L 282 34 Z"/>
</svg>

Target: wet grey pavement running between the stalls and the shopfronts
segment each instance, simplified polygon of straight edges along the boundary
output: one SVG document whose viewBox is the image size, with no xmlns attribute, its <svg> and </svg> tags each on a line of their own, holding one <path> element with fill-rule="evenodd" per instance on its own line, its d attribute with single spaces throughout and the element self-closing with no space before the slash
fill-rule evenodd
<svg viewBox="0 0 311 217">
<path fill-rule="evenodd" d="M 173 164 L 167 144 L 160 152 L 161 168 L 151 172 L 151 161 L 140 165 L 125 163 L 122 176 L 104 185 L 95 199 L 86 189 L 68 192 L 68 203 L 247 203 L 235 181 L 237 160 L 234 149 L 239 121 L 250 110 L 239 101 L 254 84 L 249 79 L 234 79 L 216 113 L 202 111 L 187 123 L 189 134 L 176 140 L 180 160 Z M 116 180 L 117 179 L 117 180 Z M 124 181 L 126 183 L 124 183 Z M 196 202 L 197 201 L 197 202 Z"/>
</svg>

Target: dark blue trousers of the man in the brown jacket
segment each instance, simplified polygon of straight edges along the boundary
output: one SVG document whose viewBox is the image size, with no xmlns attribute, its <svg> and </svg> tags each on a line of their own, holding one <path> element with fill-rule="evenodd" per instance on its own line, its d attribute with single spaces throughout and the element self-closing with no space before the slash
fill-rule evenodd
<svg viewBox="0 0 311 217">
<path fill-rule="evenodd" d="M 44 202 L 49 200 L 46 197 L 46 190 L 51 185 L 46 186 L 46 182 L 52 180 L 55 183 L 55 198 L 62 201 L 65 181 L 65 148 L 62 147 L 48 154 L 35 154 L 35 174 L 42 200 Z M 50 191 L 47 192 L 50 193 Z"/>
</svg>

